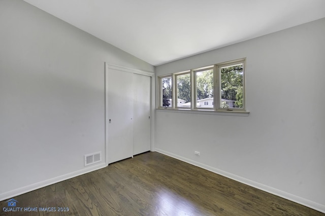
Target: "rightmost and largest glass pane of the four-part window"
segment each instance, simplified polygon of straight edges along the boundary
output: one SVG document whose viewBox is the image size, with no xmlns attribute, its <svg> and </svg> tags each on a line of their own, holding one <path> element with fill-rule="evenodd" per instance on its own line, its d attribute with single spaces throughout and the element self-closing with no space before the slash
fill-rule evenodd
<svg viewBox="0 0 325 216">
<path fill-rule="evenodd" d="M 222 67 L 220 108 L 243 108 L 243 64 Z"/>
</svg>

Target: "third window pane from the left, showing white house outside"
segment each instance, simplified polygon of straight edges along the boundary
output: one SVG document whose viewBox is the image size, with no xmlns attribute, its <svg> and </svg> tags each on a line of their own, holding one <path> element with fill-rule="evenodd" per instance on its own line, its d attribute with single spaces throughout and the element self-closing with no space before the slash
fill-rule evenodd
<svg viewBox="0 0 325 216">
<path fill-rule="evenodd" d="M 196 72 L 197 107 L 213 108 L 213 70 Z"/>
</svg>

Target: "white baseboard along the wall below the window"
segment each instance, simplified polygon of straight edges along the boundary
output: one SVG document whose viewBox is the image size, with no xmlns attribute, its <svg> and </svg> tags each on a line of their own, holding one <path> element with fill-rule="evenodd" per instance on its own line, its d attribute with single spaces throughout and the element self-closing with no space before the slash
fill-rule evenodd
<svg viewBox="0 0 325 216">
<path fill-rule="evenodd" d="M 243 177 L 231 174 L 230 172 L 226 172 L 226 171 L 223 171 L 221 169 L 217 169 L 215 167 L 208 166 L 206 164 L 199 163 L 199 162 L 194 161 L 194 160 L 190 160 L 188 158 L 173 154 L 171 152 L 167 152 L 167 151 L 157 149 L 157 148 L 155 148 L 155 151 L 159 152 L 161 154 L 165 154 L 165 155 L 168 155 L 170 157 L 176 158 L 178 160 L 184 161 L 186 163 L 192 164 L 194 166 L 198 166 L 198 167 L 204 168 L 206 170 L 212 171 L 212 172 L 214 172 L 216 174 L 219 174 L 219 175 L 224 176 L 226 178 L 229 178 L 229 179 L 235 180 L 237 182 L 243 183 L 245 185 L 249 185 L 249 186 L 257 188 L 259 190 L 274 194 L 274 195 L 282 197 L 284 199 L 299 203 L 301 205 L 304 205 L 304 206 L 307 206 L 309 208 L 312 208 L 312 209 L 315 209 L 317 211 L 325 213 L 325 205 L 322 205 L 320 203 L 316 203 L 314 201 L 311 201 L 311 200 L 308 200 L 308 199 L 305 199 L 305 198 L 302 198 L 302 197 L 299 197 L 299 196 L 296 196 L 296 195 L 293 195 L 293 194 L 278 190 L 276 188 L 272 188 L 272 187 L 269 187 L 267 185 L 263 185 L 263 184 L 260 184 L 258 182 L 251 181 L 249 179 L 245 179 Z"/>
</svg>

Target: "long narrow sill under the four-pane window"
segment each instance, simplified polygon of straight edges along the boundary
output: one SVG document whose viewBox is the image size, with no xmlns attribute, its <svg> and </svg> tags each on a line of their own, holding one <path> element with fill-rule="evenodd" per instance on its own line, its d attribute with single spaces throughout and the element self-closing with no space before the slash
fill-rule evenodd
<svg viewBox="0 0 325 216">
<path fill-rule="evenodd" d="M 207 115 L 229 115 L 229 116 L 248 116 L 249 111 L 230 111 L 230 110 L 190 110 L 190 109 L 171 109 L 158 108 L 158 112 L 178 112 L 178 113 L 193 113 L 193 114 L 207 114 Z"/>
</svg>

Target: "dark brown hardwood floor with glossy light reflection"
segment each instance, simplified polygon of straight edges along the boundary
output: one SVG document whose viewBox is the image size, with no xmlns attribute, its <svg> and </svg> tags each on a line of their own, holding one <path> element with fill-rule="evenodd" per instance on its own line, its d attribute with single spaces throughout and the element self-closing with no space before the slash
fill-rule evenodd
<svg viewBox="0 0 325 216">
<path fill-rule="evenodd" d="M 38 211 L 1 215 L 325 215 L 157 152 L 13 198 Z"/>
</svg>

